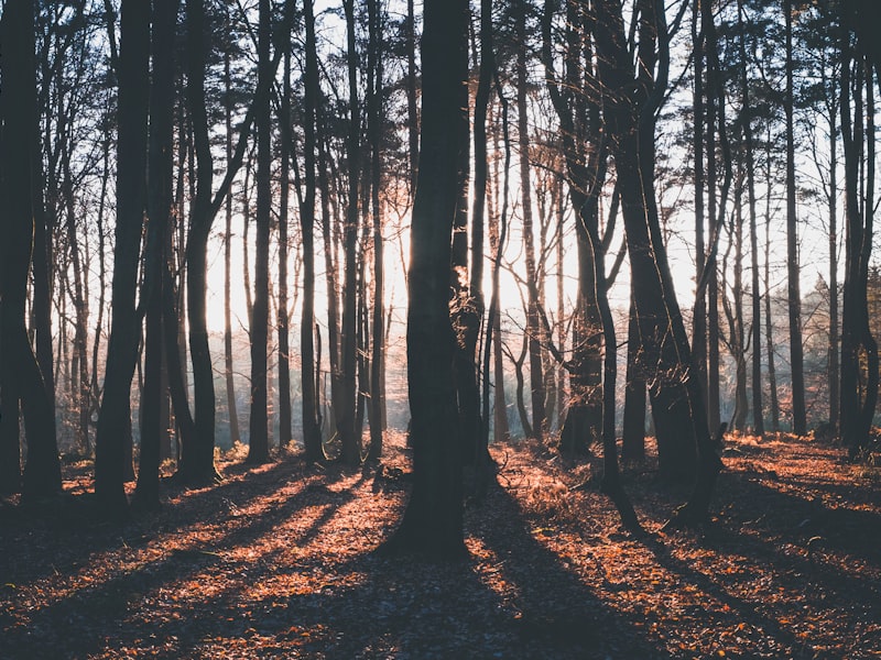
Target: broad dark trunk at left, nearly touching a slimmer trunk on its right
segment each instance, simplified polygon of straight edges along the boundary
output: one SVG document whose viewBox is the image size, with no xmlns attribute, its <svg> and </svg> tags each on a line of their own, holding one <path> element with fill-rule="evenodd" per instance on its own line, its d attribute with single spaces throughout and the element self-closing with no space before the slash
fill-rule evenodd
<svg viewBox="0 0 881 660">
<path fill-rule="evenodd" d="M 110 515 L 118 515 L 128 506 L 123 488 L 126 438 L 131 428 L 131 381 L 140 339 L 134 298 L 146 204 L 149 0 L 122 0 L 120 16 L 117 223 L 110 337 L 95 441 L 95 495 Z"/>
</svg>

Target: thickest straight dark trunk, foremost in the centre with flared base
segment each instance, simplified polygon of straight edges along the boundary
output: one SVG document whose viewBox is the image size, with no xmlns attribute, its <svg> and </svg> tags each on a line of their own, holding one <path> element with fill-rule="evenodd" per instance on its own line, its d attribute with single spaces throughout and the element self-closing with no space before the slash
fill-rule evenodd
<svg viewBox="0 0 881 660">
<path fill-rule="evenodd" d="M 422 37 L 420 174 L 407 271 L 407 377 L 413 492 L 385 548 L 439 558 L 465 553 L 454 333 L 449 318 L 453 222 L 467 132 L 468 2 L 426 0 Z"/>
</svg>

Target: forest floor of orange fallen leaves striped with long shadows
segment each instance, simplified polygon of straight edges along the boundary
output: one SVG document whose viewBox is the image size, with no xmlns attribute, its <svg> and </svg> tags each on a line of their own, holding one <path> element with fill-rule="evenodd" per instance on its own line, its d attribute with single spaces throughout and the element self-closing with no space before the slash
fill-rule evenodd
<svg viewBox="0 0 881 660">
<path fill-rule="evenodd" d="M 409 488 L 389 440 L 380 477 L 228 455 L 117 525 L 67 466 L 61 503 L 0 505 L 0 658 L 881 658 L 881 469 L 840 447 L 729 438 L 713 520 L 644 539 L 597 465 L 501 447 L 467 560 L 438 564 L 373 552 Z M 650 530 L 687 495 L 624 480 Z"/>
</svg>

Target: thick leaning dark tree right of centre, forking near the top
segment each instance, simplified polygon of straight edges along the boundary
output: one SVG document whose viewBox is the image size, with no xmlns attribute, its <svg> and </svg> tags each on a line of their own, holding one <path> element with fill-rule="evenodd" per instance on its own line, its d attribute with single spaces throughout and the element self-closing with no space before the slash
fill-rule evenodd
<svg viewBox="0 0 881 660">
<path fill-rule="evenodd" d="M 621 210 L 631 276 L 635 283 L 638 318 L 643 345 L 651 362 L 659 365 L 651 387 L 652 410 L 657 422 L 674 409 L 677 399 L 682 399 L 687 416 L 676 429 L 678 442 L 684 442 L 676 459 L 694 463 L 697 454 L 694 491 L 688 503 L 674 516 L 675 522 L 671 521 L 678 525 L 706 518 L 720 462 L 709 435 L 700 384 L 692 372 L 690 346 L 673 288 L 653 187 L 655 112 L 666 89 L 670 63 L 666 18 L 657 4 L 660 2 L 646 0 L 640 6 L 651 12 L 651 18 L 641 23 L 641 28 L 650 32 L 640 36 L 657 40 L 657 64 L 653 67 L 651 86 L 633 89 L 629 81 L 632 64 L 620 3 L 612 0 L 597 3 L 596 40 L 600 79 L 608 90 L 605 119 L 613 141 L 612 153 L 621 185 Z M 661 329 L 663 334 L 659 332 Z M 670 424 L 668 419 L 665 421 Z"/>
</svg>

